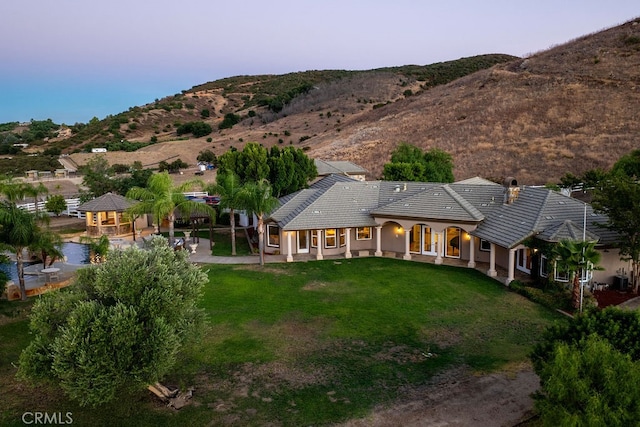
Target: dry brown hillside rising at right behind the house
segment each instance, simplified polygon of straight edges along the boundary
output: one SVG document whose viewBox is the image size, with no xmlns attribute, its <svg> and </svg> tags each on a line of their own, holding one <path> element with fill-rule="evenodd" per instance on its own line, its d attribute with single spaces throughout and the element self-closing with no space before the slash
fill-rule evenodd
<svg viewBox="0 0 640 427">
<path fill-rule="evenodd" d="M 557 182 L 640 147 L 640 20 L 496 65 L 372 111 L 312 155 L 381 172 L 401 141 L 454 157 L 456 179 Z"/>
</svg>

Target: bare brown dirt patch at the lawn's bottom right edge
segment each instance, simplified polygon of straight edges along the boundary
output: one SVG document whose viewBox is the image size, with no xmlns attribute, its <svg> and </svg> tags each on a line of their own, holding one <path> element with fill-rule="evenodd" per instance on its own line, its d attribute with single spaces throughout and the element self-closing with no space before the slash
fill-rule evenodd
<svg viewBox="0 0 640 427">
<path fill-rule="evenodd" d="M 448 372 L 397 405 L 375 409 L 341 427 L 515 426 L 533 412 L 531 393 L 540 385 L 530 366 L 516 372 L 473 376 Z"/>
</svg>

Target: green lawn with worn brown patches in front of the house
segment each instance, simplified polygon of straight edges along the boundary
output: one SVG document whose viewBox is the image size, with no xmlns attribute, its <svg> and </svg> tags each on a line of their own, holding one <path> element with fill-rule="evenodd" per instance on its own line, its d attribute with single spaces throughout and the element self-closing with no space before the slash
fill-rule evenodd
<svg viewBox="0 0 640 427">
<path fill-rule="evenodd" d="M 22 425 L 24 411 L 72 412 L 76 425 L 326 425 L 448 369 L 520 364 L 557 319 L 463 268 L 366 258 L 205 270 L 206 327 L 165 381 L 195 387 L 191 405 L 176 412 L 142 391 L 79 408 L 53 385 L 17 382 L 29 341 L 17 316 L 0 324 L 0 425 Z"/>
</svg>

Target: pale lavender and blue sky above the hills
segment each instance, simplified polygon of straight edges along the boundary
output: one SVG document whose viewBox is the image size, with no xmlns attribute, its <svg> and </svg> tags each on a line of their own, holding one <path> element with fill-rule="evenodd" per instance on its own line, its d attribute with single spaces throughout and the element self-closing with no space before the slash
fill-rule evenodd
<svg viewBox="0 0 640 427">
<path fill-rule="evenodd" d="M 6 0 L 0 123 L 87 123 L 225 77 L 524 57 L 637 0 Z"/>
</svg>

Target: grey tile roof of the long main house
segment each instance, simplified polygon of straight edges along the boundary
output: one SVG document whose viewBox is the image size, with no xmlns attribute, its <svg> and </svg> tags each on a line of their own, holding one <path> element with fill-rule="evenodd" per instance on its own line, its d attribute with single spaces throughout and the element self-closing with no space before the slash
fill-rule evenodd
<svg viewBox="0 0 640 427">
<path fill-rule="evenodd" d="M 513 203 L 505 188 L 486 180 L 442 184 L 355 181 L 328 177 L 280 199 L 270 217 L 283 230 L 376 226 L 375 217 L 478 224 L 474 236 L 513 248 L 531 236 L 547 241 L 582 238 L 585 204 L 539 187 L 521 187 Z M 615 241 L 615 233 L 598 226 L 604 215 L 586 205 L 589 240 Z"/>
</svg>

